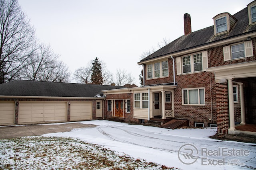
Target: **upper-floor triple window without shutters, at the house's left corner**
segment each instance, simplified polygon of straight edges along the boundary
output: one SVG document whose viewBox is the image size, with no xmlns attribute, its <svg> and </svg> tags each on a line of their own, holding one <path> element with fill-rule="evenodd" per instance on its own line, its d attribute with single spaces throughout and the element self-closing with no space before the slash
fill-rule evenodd
<svg viewBox="0 0 256 170">
<path fill-rule="evenodd" d="M 154 71 L 153 71 L 154 70 Z M 168 76 L 168 61 L 147 65 L 147 78 L 161 78 Z"/>
</svg>

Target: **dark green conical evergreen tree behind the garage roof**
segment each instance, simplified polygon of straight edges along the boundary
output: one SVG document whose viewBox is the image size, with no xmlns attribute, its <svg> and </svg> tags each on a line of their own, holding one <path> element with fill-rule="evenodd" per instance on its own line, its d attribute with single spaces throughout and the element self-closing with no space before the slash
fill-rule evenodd
<svg viewBox="0 0 256 170">
<path fill-rule="evenodd" d="M 102 77 L 102 68 L 99 59 L 96 57 L 92 63 L 92 76 L 91 81 L 92 84 L 103 84 L 103 77 Z"/>
</svg>

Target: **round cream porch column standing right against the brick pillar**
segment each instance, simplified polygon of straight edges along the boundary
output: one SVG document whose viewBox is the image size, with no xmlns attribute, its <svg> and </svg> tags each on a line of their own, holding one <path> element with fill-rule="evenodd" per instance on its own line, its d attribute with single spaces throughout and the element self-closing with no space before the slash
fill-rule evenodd
<svg viewBox="0 0 256 170">
<path fill-rule="evenodd" d="M 233 96 L 233 81 L 228 78 L 228 104 L 229 104 L 229 129 L 235 131 L 235 116 L 234 116 L 234 96 Z"/>
</svg>

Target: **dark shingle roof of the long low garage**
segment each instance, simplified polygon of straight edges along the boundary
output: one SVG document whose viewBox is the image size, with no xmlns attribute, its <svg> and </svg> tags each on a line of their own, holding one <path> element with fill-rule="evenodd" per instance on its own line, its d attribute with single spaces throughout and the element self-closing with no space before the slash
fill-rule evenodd
<svg viewBox="0 0 256 170">
<path fill-rule="evenodd" d="M 0 96 L 95 97 L 101 90 L 124 88 L 95 84 L 14 80 L 0 84 Z"/>
</svg>

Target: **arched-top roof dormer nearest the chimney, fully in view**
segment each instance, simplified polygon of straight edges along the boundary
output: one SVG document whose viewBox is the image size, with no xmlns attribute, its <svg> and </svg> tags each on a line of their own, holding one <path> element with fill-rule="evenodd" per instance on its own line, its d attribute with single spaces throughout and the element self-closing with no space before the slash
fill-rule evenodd
<svg viewBox="0 0 256 170">
<path fill-rule="evenodd" d="M 214 35 L 219 35 L 229 32 L 234 24 L 236 23 L 236 18 L 234 18 L 229 13 L 221 13 L 216 15 L 214 18 Z"/>
</svg>

